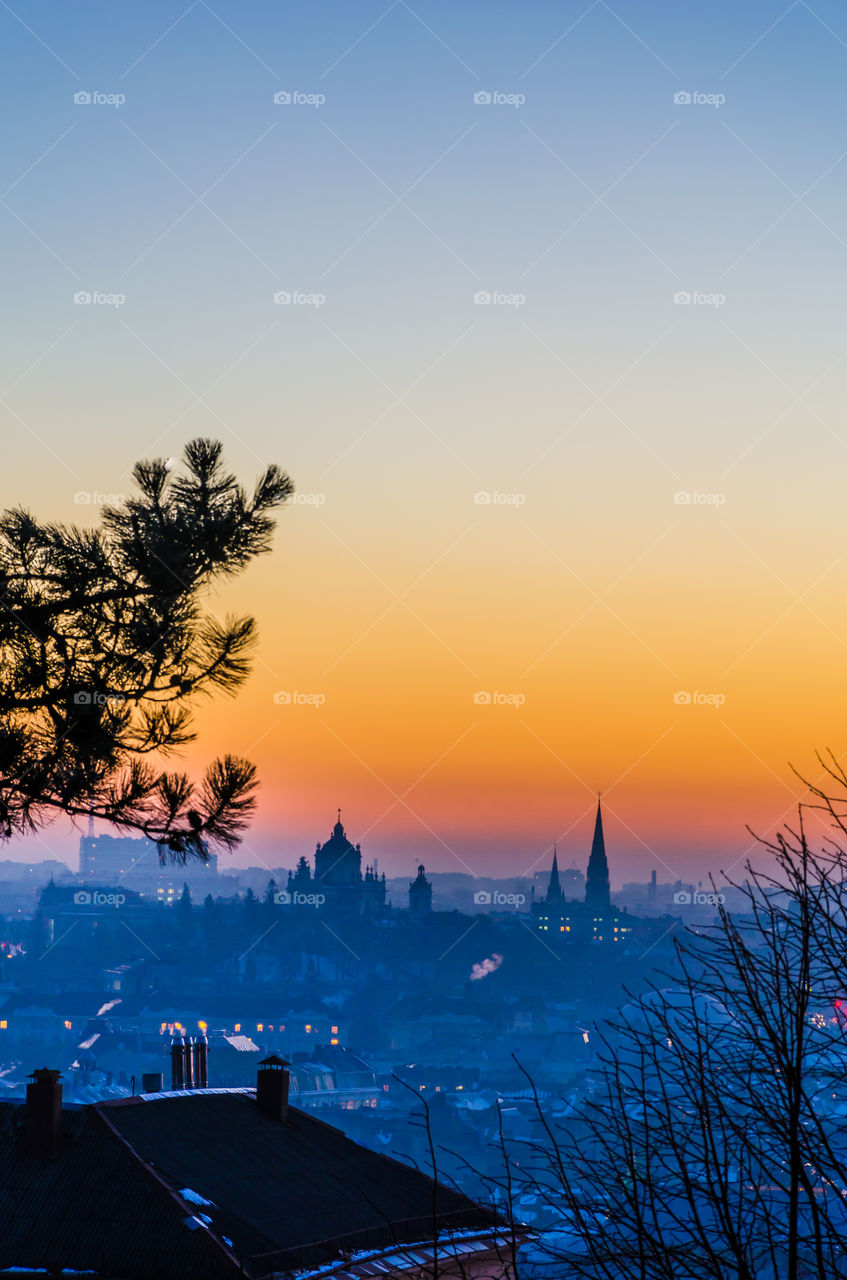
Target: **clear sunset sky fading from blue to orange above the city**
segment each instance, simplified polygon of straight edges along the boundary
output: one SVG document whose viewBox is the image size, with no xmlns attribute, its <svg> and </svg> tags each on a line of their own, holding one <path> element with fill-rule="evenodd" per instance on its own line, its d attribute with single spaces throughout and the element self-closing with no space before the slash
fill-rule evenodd
<svg viewBox="0 0 847 1280">
<path fill-rule="evenodd" d="M 340 805 L 389 874 L 583 867 L 598 791 L 613 884 L 757 856 L 844 748 L 843 6 L 17 0 L 0 49 L 0 506 L 92 525 L 197 435 L 297 484 L 209 602 L 260 627 L 187 754 L 258 765 L 233 861 Z"/>
</svg>

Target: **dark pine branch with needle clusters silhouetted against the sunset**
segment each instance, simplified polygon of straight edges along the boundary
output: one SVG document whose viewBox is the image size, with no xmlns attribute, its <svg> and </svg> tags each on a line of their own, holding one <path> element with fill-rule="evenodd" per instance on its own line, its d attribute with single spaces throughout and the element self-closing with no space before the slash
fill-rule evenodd
<svg viewBox="0 0 847 1280">
<path fill-rule="evenodd" d="M 253 621 L 203 613 L 201 596 L 270 549 L 293 484 L 270 466 L 248 495 L 212 440 L 183 461 L 137 463 L 138 494 L 99 529 L 0 516 L 0 838 L 64 812 L 182 860 L 238 842 L 252 764 L 226 755 L 194 785 L 151 760 L 192 740 L 197 695 L 244 680 Z"/>
</svg>

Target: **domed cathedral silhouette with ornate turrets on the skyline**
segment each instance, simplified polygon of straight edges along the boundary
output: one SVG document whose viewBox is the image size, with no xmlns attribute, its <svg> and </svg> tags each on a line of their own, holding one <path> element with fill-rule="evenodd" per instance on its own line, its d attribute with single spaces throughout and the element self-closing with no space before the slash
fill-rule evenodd
<svg viewBox="0 0 847 1280">
<path fill-rule="evenodd" d="M 315 870 L 301 858 L 288 877 L 292 906 L 320 906 L 329 913 L 372 915 L 385 910 L 385 874 L 374 867 L 362 874 L 362 846 L 347 838 L 342 810 L 329 840 L 315 850 Z"/>
</svg>

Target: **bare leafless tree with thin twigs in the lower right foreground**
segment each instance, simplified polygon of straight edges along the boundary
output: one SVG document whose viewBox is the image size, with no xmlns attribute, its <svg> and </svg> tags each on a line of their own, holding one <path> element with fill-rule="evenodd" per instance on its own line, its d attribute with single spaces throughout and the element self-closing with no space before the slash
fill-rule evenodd
<svg viewBox="0 0 847 1280">
<path fill-rule="evenodd" d="M 603 1034 L 576 1111 L 554 1121 L 535 1093 L 521 1164 L 560 1228 L 527 1275 L 847 1276 L 844 855 L 812 852 L 802 809 L 768 847 L 774 874 L 747 867 L 743 909 Z"/>
</svg>

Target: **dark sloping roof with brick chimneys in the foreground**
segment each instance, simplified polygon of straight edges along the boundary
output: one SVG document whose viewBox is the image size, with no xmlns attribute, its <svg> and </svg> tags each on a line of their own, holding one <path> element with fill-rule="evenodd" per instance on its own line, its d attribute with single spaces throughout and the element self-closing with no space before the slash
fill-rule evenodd
<svg viewBox="0 0 847 1280">
<path fill-rule="evenodd" d="M 329 1261 L 342 1236 L 366 1248 L 431 1235 L 429 1178 L 307 1112 L 273 1120 L 244 1091 L 65 1111 L 55 1160 L 23 1152 L 23 1112 L 0 1105 L 0 1268 L 201 1280 L 249 1260 L 247 1274 L 261 1276 Z M 491 1224 L 448 1188 L 438 1212 L 455 1226 Z M 207 1228 L 186 1225 L 203 1213 Z"/>
</svg>

